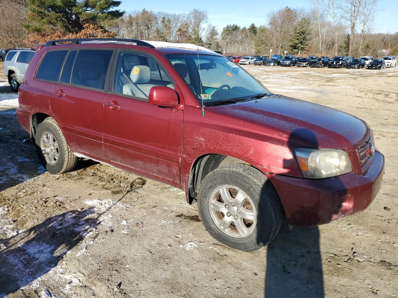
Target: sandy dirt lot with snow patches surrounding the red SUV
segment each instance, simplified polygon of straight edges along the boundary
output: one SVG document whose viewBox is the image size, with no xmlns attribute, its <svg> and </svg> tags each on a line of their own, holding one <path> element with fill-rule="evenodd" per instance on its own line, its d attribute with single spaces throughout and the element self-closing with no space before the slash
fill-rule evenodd
<svg viewBox="0 0 398 298">
<path fill-rule="evenodd" d="M 45 172 L 0 77 L 0 297 L 397 297 L 398 67 L 246 69 L 274 93 L 367 121 L 386 159 L 367 210 L 283 223 L 267 248 L 236 251 L 177 188 L 91 161 Z"/>
</svg>

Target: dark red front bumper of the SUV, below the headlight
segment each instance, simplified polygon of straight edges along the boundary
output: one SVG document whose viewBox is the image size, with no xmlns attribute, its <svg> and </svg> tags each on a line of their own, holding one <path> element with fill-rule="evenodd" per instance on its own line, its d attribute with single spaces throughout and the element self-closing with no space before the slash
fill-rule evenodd
<svg viewBox="0 0 398 298">
<path fill-rule="evenodd" d="M 281 198 L 288 222 L 294 226 L 314 226 L 365 210 L 380 190 L 383 174 L 384 156 L 376 150 L 371 166 L 363 175 L 351 172 L 322 180 L 266 176 Z M 341 214 L 339 203 L 347 197 L 353 200 L 353 207 Z"/>
</svg>

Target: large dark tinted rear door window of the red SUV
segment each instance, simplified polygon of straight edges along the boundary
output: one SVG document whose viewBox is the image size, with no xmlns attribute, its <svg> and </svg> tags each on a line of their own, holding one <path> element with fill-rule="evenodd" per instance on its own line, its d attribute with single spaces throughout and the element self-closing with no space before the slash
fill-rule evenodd
<svg viewBox="0 0 398 298">
<path fill-rule="evenodd" d="M 103 90 L 112 54 L 113 50 L 79 50 L 70 84 Z"/>
</svg>

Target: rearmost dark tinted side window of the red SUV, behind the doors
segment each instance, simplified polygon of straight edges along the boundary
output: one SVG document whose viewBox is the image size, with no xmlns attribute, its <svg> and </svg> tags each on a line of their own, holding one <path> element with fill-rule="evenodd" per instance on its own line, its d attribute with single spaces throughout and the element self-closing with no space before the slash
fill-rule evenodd
<svg viewBox="0 0 398 298">
<path fill-rule="evenodd" d="M 43 81 L 58 81 L 62 62 L 68 50 L 55 50 L 47 52 L 40 62 L 36 72 L 36 79 Z"/>
</svg>

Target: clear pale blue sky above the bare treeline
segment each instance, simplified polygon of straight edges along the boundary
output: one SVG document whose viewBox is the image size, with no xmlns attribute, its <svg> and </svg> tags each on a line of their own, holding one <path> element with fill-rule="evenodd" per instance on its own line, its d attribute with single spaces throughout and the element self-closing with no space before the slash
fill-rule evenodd
<svg viewBox="0 0 398 298">
<path fill-rule="evenodd" d="M 268 2 L 268 1 L 267 1 Z M 278 10 L 285 6 L 291 8 L 309 6 L 306 0 L 285 0 L 282 2 L 272 1 L 250 1 L 242 2 L 230 0 L 228 2 L 217 0 L 201 0 L 198 2 L 187 0 L 176 1 L 133 1 L 122 0 L 120 8 L 126 12 L 134 10 L 164 11 L 174 13 L 186 13 L 193 8 L 207 10 L 209 14 L 209 22 L 222 29 L 227 24 L 237 24 L 240 27 L 248 27 L 251 23 L 257 26 L 265 24 L 265 17 L 271 10 Z M 397 21 L 397 2 L 396 0 L 378 0 L 378 8 L 381 9 L 376 13 L 375 32 L 395 33 L 398 31 Z M 246 10 L 246 11 L 245 11 Z"/>
</svg>

